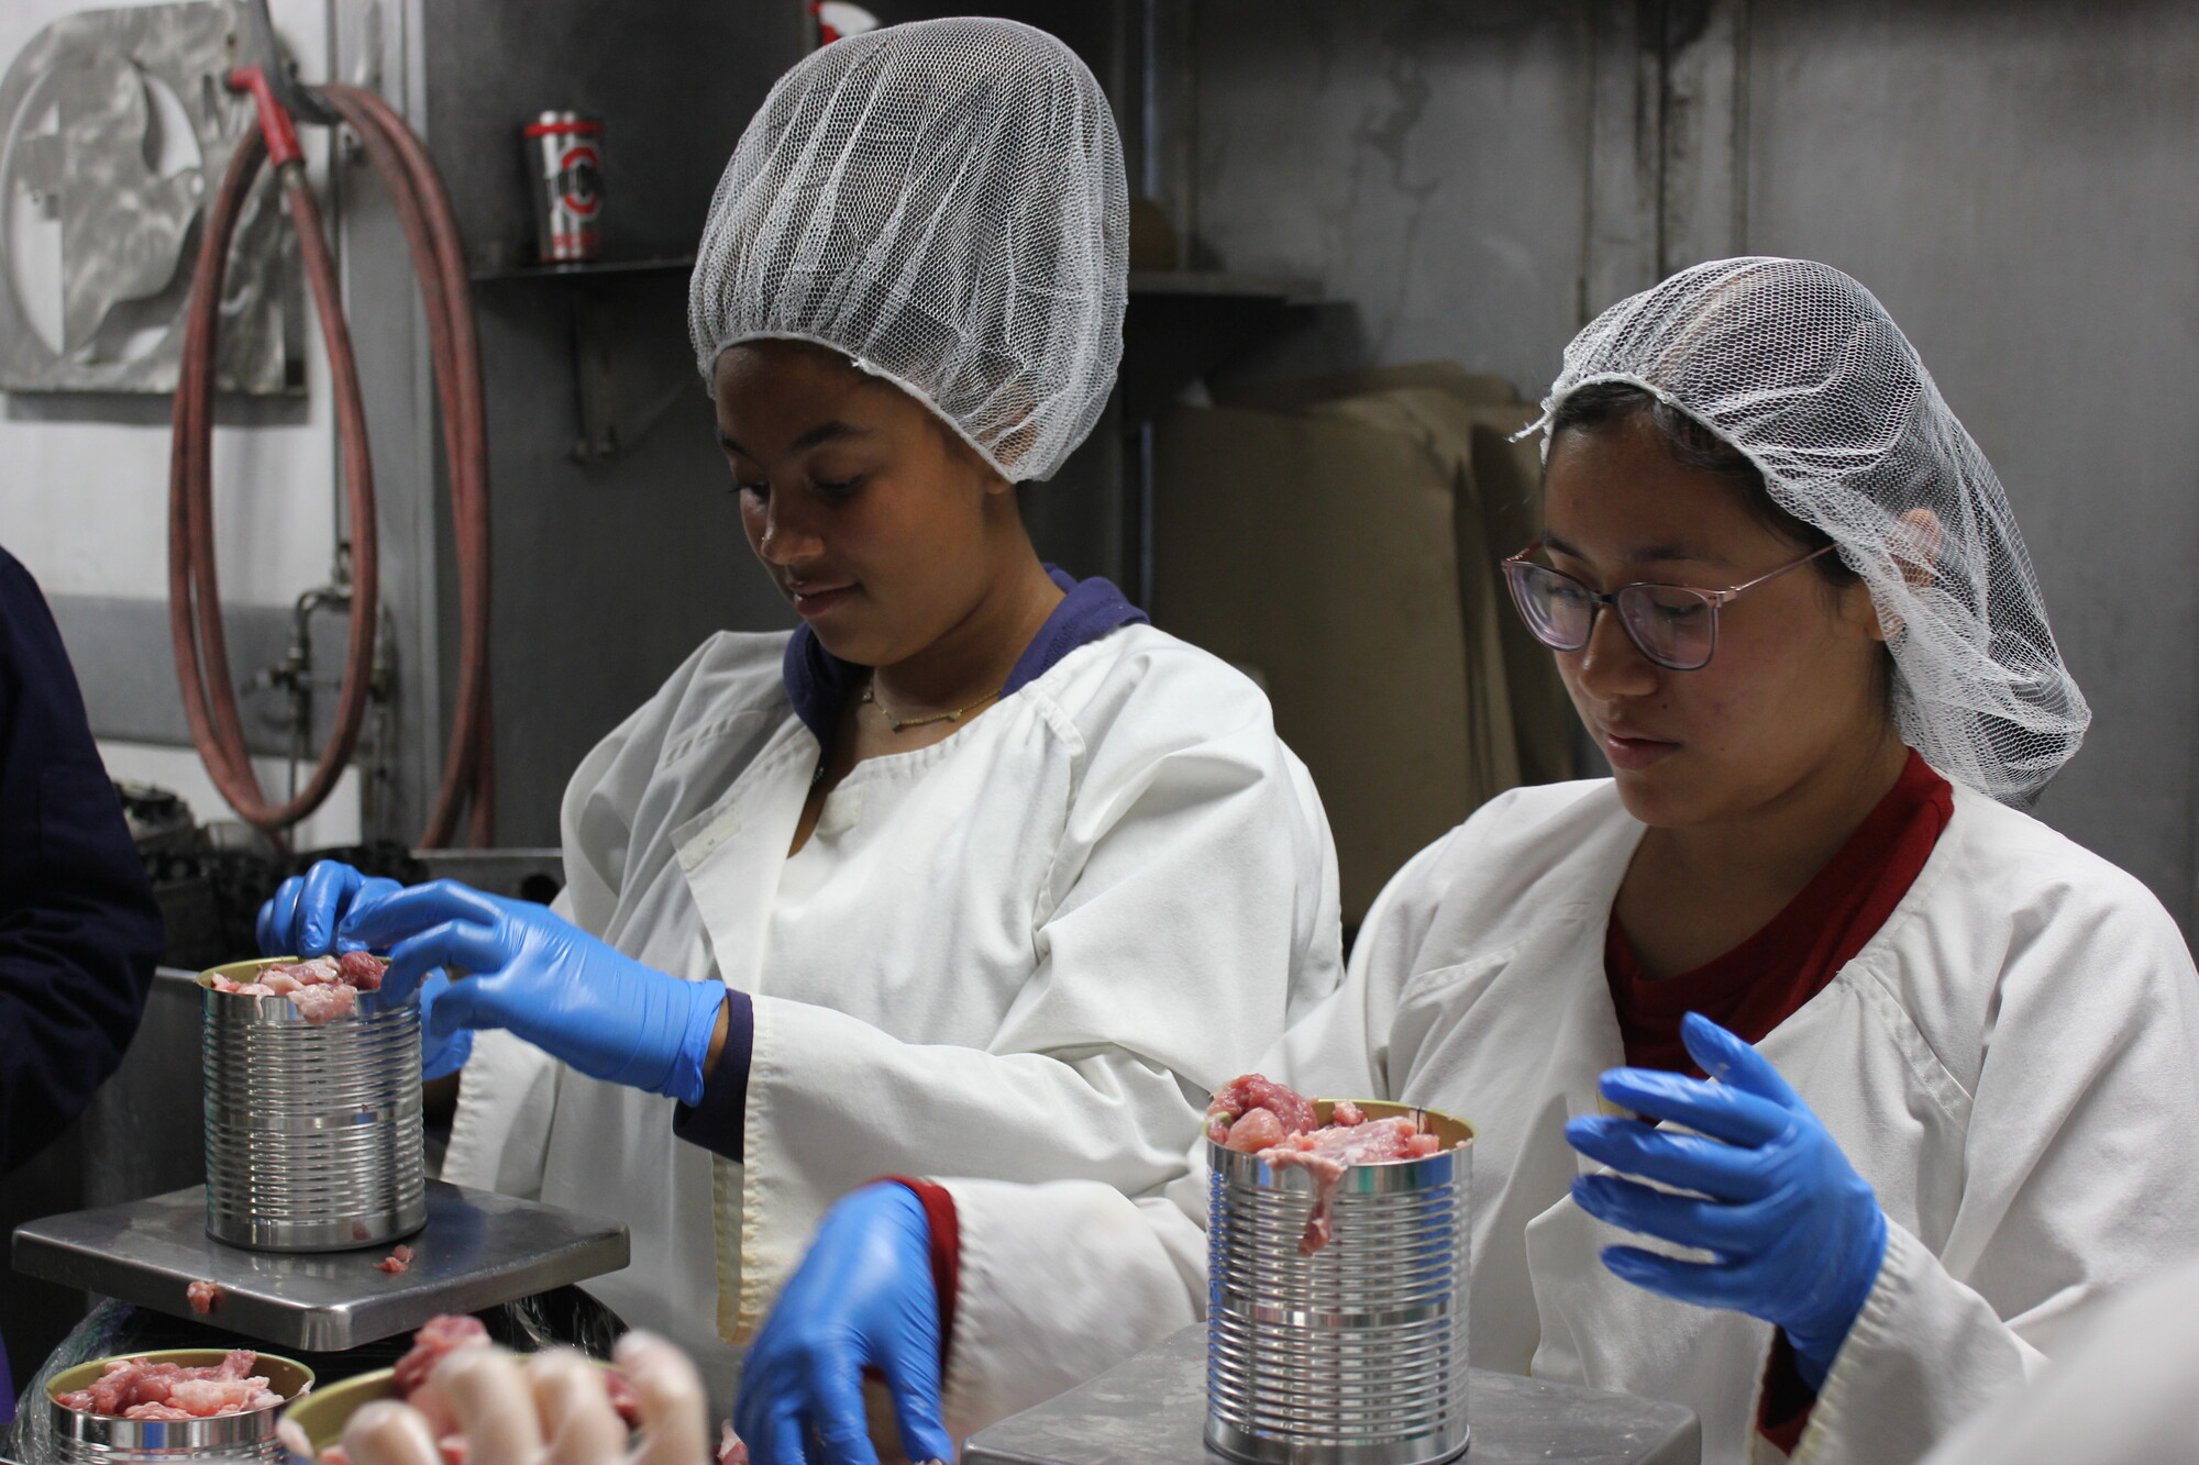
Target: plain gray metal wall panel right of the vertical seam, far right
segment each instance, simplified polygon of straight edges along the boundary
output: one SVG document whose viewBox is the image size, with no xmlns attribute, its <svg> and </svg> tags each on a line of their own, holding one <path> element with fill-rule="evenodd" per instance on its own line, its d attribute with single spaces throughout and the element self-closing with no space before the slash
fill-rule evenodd
<svg viewBox="0 0 2199 1465">
<path fill-rule="evenodd" d="M 2199 7 L 1755 9 L 1748 249 L 1871 286 L 1992 458 L 2093 708 L 2038 814 L 2188 928 Z"/>
</svg>

